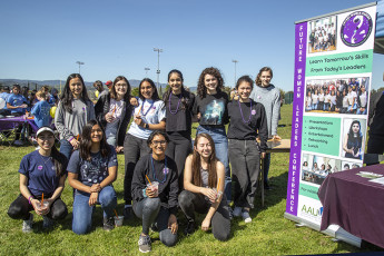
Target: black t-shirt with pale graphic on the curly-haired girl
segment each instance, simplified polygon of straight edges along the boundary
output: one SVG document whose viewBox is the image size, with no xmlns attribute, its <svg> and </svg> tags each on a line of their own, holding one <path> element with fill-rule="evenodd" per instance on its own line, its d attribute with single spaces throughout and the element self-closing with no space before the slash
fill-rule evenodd
<svg viewBox="0 0 384 256">
<path fill-rule="evenodd" d="M 206 95 L 205 98 L 196 97 L 194 115 L 200 114 L 201 126 L 224 126 L 228 124 L 228 95 L 218 91 L 216 95 Z"/>
</svg>

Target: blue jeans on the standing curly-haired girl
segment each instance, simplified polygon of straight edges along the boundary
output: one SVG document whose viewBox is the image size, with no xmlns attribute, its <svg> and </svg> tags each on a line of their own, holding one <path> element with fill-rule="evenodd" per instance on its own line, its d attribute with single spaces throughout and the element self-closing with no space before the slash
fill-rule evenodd
<svg viewBox="0 0 384 256">
<path fill-rule="evenodd" d="M 198 126 L 196 130 L 196 135 L 198 134 L 208 134 L 214 142 L 215 142 L 215 150 L 216 157 L 219 161 L 223 163 L 225 168 L 225 189 L 224 193 L 227 197 L 227 200 L 230 201 L 230 169 L 229 169 L 229 160 L 228 160 L 228 138 L 225 134 L 225 127 L 214 127 L 214 126 Z"/>
</svg>

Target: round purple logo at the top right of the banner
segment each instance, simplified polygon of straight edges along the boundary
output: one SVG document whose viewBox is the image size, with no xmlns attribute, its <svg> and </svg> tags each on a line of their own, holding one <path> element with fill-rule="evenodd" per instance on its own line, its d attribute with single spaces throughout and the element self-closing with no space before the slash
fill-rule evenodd
<svg viewBox="0 0 384 256">
<path fill-rule="evenodd" d="M 347 16 L 342 24 L 341 37 L 344 45 L 358 47 L 372 32 L 372 18 L 365 11 L 355 11 Z"/>
</svg>

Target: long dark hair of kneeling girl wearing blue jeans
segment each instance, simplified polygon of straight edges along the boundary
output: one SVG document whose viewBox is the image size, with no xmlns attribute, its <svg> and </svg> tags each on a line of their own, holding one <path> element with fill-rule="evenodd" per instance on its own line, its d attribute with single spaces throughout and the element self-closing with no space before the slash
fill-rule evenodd
<svg viewBox="0 0 384 256">
<path fill-rule="evenodd" d="M 91 160 L 91 156 L 90 156 L 90 148 L 92 146 L 91 131 L 92 131 L 92 127 L 96 125 L 98 125 L 100 129 L 102 130 L 102 139 L 100 141 L 101 156 L 108 157 L 110 152 L 110 147 L 107 144 L 106 132 L 104 131 L 102 126 L 97 120 L 91 119 L 87 122 L 87 125 L 82 127 L 81 140 L 80 140 L 80 157 L 88 161 Z"/>
</svg>

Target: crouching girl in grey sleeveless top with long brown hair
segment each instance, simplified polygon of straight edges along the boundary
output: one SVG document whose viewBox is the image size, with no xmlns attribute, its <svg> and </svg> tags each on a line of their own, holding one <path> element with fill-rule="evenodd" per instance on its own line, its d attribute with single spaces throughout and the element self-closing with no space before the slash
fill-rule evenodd
<svg viewBox="0 0 384 256">
<path fill-rule="evenodd" d="M 225 167 L 216 158 L 215 144 L 207 134 L 198 134 L 195 139 L 194 154 L 186 160 L 184 188 L 179 195 L 179 205 L 188 225 L 185 234 L 195 232 L 195 211 L 206 214 L 201 230 L 207 232 L 211 225 L 213 234 L 218 240 L 227 240 L 230 234 L 229 206 L 223 194 Z"/>
</svg>

